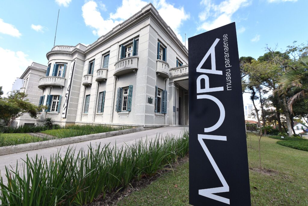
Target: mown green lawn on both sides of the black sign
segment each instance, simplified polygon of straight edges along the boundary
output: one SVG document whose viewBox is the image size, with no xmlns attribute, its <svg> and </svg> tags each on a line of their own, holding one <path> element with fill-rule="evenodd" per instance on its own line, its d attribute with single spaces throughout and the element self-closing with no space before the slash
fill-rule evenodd
<svg viewBox="0 0 308 206">
<path fill-rule="evenodd" d="M 261 139 L 262 167 L 274 171 L 264 174 L 253 170 L 258 168 L 258 138 L 249 135 L 247 139 L 251 204 L 308 205 L 308 152 L 276 142 L 277 139 L 268 137 Z M 132 192 L 117 205 L 189 205 L 188 163 L 177 167 L 174 174 L 168 172 L 149 186 Z"/>
</svg>

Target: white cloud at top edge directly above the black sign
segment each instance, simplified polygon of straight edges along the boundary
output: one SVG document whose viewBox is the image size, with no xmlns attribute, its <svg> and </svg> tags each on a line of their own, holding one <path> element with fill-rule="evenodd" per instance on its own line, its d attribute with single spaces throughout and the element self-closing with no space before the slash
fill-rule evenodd
<svg viewBox="0 0 308 206">
<path fill-rule="evenodd" d="M 204 7 L 204 11 L 199 14 L 201 25 L 198 29 L 209 31 L 231 23 L 232 15 L 250 3 L 250 0 L 225 0 L 217 5 L 212 0 L 202 0 L 200 4 Z"/>
</svg>

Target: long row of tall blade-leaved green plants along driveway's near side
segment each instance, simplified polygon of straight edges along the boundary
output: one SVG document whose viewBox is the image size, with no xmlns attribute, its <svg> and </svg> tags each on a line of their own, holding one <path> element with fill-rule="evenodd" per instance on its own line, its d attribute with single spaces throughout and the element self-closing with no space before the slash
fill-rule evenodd
<svg viewBox="0 0 308 206">
<path fill-rule="evenodd" d="M 151 176 L 188 153 L 188 132 L 176 138 L 158 136 L 122 147 L 104 145 L 69 149 L 50 161 L 27 157 L 23 171 L 6 167 L 0 200 L 6 205 L 84 205 Z M 18 166 L 16 168 L 19 168 Z"/>
</svg>

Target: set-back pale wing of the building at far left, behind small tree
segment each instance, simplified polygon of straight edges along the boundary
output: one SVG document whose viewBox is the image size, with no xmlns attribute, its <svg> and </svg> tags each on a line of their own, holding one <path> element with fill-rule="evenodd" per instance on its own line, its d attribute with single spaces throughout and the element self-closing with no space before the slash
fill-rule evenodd
<svg viewBox="0 0 308 206">
<path fill-rule="evenodd" d="M 46 74 L 47 66 L 32 62 L 30 66 L 28 66 L 23 72 L 23 74 L 18 78 L 22 80 L 22 85 L 15 90 L 20 90 L 21 92 L 25 92 L 28 96 L 27 99 L 33 103 L 34 105 L 39 105 L 40 98 L 42 96 L 42 90 L 38 88 L 39 80 Z M 12 89 L 13 90 L 13 89 Z M 21 117 L 17 118 L 13 126 L 19 125 L 34 125 L 35 119 L 31 118 L 29 114 L 24 114 Z"/>
</svg>

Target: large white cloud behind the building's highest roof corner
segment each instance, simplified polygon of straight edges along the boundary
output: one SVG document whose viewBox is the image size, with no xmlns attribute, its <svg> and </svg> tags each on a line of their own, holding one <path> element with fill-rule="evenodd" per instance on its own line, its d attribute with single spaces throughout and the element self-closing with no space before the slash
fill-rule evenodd
<svg viewBox="0 0 308 206">
<path fill-rule="evenodd" d="M 104 10 L 106 7 L 101 4 L 98 6 L 96 2 L 89 1 L 82 7 L 82 16 L 86 25 L 94 28 L 93 34 L 101 36 L 136 14 L 147 4 L 148 2 L 142 0 L 123 0 L 122 5 L 116 9 L 115 13 L 110 13 L 109 19 L 103 19 L 98 7 L 101 10 Z M 153 4 L 160 16 L 183 42 L 180 35 L 180 26 L 184 20 L 189 19 L 189 14 L 184 11 L 184 7 L 175 8 L 174 5 L 167 3 L 165 0 L 156 0 Z"/>
</svg>

